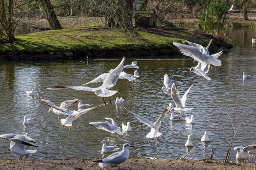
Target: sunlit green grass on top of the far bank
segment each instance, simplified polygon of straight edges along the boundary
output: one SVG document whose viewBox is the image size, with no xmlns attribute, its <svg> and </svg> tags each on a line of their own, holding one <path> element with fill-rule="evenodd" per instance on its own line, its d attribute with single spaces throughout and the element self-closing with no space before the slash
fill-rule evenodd
<svg viewBox="0 0 256 170">
<path fill-rule="evenodd" d="M 43 31 L 17 36 L 17 41 L 14 43 L 0 44 L 0 53 L 53 54 L 65 51 L 174 48 L 173 41 L 184 43 L 184 39 L 191 39 L 193 36 L 195 38 L 195 35 L 186 31 L 168 30 L 166 32 L 168 33 L 163 35 L 145 31 L 132 34 L 124 33 L 119 29 L 85 28 Z"/>
</svg>

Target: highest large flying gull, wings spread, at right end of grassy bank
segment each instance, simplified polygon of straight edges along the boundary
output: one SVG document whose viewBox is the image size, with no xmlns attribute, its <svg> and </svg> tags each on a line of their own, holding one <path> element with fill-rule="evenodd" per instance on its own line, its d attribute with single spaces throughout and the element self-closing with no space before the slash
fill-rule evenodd
<svg viewBox="0 0 256 170">
<path fill-rule="evenodd" d="M 185 44 L 180 44 L 177 42 L 173 42 L 173 45 L 175 45 L 179 51 L 186 55 L 194 58 L 194 60 L 197 60 L 199 63 L 201 63 L 201 67 L 205 68 L 207 64 L 212 64 L 214 66 L 221 66 L 221 60 L 216 59 L 216 55 L 221 55 L 220 52 L 210 55 L 207 47 L 203 47 L 199 44 L 192 43 L 189 41 L 186 41 L 189 43 L 191 46 L 185 45 Z M 208 44 L 209 46 L 209 44 Z"/>
</svg>

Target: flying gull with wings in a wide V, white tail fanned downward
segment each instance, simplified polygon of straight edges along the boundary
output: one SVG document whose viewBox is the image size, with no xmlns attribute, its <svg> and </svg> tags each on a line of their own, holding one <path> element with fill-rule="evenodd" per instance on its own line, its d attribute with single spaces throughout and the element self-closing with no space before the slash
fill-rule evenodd
<svg viewBox="0 0 256 170">
<path fill-rule="evenodd" d="M 165 114 L 167 112 L 170 111 L 172 104 L 170 103 L 169 106 L 163 110 L 162 114 L 159 116 L 159 118 L 157 119 L 157 121 L 155 123 L 149 121 L 146 118 L 143 118 L 142 116 L 139 116 L 129 110 L 127 110 L 125 107 L 123 107 L 125 110 L 127 110 L 129 113 L 131 113 L 135 118 L 139 119 L 139 121 L 141 121 L 142 123 L 148 125 L 149 127 L 151 127 L 151 131 L 147 134 L 147 138 L 152 138 L 152 140 L 154 140 L 154 137 L 157 137 L 157 140 L 159 140 L 159 136 L 162 135 L 161 132 L 159 131 L 160 125 L 163 124 L 161 122 L 161 119 L 163 119 L 163 117 L 165 116 Z"/>
</svg>

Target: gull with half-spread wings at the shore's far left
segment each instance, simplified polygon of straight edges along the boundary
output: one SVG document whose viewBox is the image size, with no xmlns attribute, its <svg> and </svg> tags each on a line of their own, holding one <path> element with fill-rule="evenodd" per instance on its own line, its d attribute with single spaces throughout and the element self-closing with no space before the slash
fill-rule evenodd
<svg viewBox="0 0 256 170">
<path fill-rule="evenodd" d="M 27 146 L 38 147 L 36 144 L 34 144 L 36 142 L 31 137 L 18 134 L 4 134 L 0 135 L 0 138 L 11 141 L 11 152 L 20 155 L 20 159 L 22 159 L 23 155 L 37 152 L 37 150 L 26 150 Z"/>
</svg>

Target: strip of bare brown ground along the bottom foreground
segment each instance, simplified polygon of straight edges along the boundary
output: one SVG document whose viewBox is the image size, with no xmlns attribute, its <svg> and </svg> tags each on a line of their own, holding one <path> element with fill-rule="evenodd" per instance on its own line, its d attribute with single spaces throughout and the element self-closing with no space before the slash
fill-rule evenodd
<svg viewBox="0 0 256 170">
<path fill-rule="evenodd" d="M 100 170 L 93 159 L 0 160 L 0 170 Z M 223 163 L 215 160 L 129 159 L 121 170 L 253 170 L 252 163 Z M 118 170 L 108 166 L 102 170 Z"/>
</svg>

